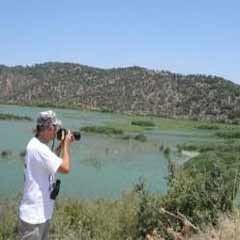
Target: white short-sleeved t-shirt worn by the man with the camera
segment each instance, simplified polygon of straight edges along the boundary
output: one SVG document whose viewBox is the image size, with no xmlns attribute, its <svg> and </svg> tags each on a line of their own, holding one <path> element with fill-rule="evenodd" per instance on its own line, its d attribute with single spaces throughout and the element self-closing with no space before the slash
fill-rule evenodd
<svg viewBox="0 0 240 240">
<path fill-rule="evenodd" d="M 24 193 L 20 219 L 31 224 L 44 223 L 52 217 L 54 200 L 50 199 L 55 173 L 62 159 L 49 147 L 32 138 L 26 148 Z"/>
</svg>

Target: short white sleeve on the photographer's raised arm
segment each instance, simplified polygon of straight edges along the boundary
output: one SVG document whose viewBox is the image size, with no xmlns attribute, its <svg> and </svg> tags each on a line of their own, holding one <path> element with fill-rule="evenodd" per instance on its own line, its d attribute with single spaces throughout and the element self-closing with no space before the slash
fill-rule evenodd
<svg viewBox="0 0 240 240">
<path fill-rule="evenodd" d="M 51 175 L 55 174 L 62 164 L 62 159 L 53 153 L 47 146 L 38 151 L 40 161 Z"/>
</svg>

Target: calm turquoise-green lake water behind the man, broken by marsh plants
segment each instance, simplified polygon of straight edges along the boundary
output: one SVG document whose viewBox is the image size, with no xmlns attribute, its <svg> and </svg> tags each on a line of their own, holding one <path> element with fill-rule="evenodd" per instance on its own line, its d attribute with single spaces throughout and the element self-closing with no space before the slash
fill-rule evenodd
<svg viewBox="0 0 240 240">
<path fill-rule="evenodd" d="M 37 113 L 47 110 L 38 107 L 0 105 L 0 113 L 29 116 L 34 120 Z M 77 130 L 88 125 L 126 123 L 128 116 L 110 113 L 81 112 L 54 109 L 65 127 Z M 0 196 L 16 196 L 23 189 L 23 159 L 20 157 L 33 136 L 34 122 L 0 121 L 0 152 L 10 150 L 8 158 L 0 157 Z M 132 134 L 132 133 L 131 133 Z M 186 160 L 174 152 L 178 143 L 214 141 L 207 131 L 161 129 L 146 130 L 147 143 L 126 141 L 117 137 L 82 134 L 80 142 L 72 145 L 72 167 L 68 175 L 58 174 L 61 179 L 61 195 L 76 198 L 115 198 L 129 190 L 139 178 L 147 181 L 154 192 L 166 192 L 167 160 L 160 145 L 169 146 L 171 158 Z"/>
</svg>

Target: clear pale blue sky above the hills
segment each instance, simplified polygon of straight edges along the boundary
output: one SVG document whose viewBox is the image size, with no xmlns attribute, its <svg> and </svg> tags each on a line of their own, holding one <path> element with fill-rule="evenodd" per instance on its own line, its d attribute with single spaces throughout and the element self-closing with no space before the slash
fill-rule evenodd
<svg viewBox="0 0 240 240">
<path fill-rule="evenodd" d="M 0 64 L 141 66 L 240 84 L 240 1 L 2 0 Z"/>
</svg>

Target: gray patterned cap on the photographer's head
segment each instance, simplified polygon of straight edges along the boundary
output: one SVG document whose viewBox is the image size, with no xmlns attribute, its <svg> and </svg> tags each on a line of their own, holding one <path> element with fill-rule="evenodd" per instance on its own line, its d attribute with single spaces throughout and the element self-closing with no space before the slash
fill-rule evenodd
<svg viewBox="0 0 240 240">
<path fill-rule="evenodd" d="M 37 118 L 37 126 L 50 127 L 51 125 L 61 126 L 62 122 L 56 118 L 52 110 L 40 112 Z"/>
</svg>

